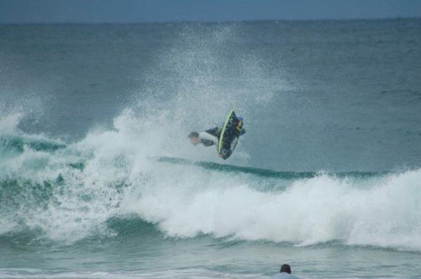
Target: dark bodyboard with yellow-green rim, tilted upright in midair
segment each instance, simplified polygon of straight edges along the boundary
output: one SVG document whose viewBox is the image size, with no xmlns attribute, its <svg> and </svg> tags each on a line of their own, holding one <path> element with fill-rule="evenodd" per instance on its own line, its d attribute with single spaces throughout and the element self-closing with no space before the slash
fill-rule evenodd
<svg viewBox="0 0 421 279">
<path fill-rule="evenodd" d="M 218 153 L 222 159 L 227 159 L 234 151 L 243 128 L 243 121 L 239 121 L 234 110 L 230 111 L 222 126 L 218 142 Z"/>
</svg>

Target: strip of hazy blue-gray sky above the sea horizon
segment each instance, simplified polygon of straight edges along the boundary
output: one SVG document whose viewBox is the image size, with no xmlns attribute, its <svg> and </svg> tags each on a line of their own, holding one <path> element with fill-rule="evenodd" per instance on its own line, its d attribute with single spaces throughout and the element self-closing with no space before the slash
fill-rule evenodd
<svg viewBox="0 0 421 279">
<path fill-rule="evenodd" d="M 0 0 L 0 23 L 421 18 L 421 0 Z"/>
</svg>

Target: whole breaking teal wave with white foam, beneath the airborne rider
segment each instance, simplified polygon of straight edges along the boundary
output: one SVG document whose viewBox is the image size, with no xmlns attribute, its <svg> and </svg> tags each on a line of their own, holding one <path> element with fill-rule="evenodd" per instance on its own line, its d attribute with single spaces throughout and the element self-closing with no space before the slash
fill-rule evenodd
<svg viewBox="0 0 421 279">
<path fill-rule="evenodd" d="M 68 145 L 9 127 L 1 136 L 1 235 L 74 243 L 124 234 L 135 218 L 144 233 L 171 238 L 421 250 L 421 170 L 233 172 L 155 158 L 160 143 L 150 135 L 165 128 L 139 123 L 147 122 L 126 112 L 114 130 Z"/>
</svg>

